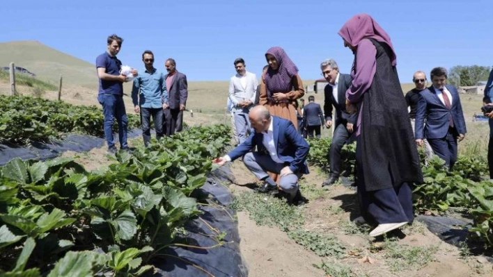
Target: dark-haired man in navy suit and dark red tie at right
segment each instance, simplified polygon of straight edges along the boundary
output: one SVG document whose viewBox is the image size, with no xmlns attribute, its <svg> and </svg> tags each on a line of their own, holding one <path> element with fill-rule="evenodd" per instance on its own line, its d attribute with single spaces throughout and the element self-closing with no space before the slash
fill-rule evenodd
<svg viewBox="0 0 493 277">
<path fill-rule="evenodd" d="M 426 138 L 433 152 L 445 160 L 445 165 L 452 170 L 457 160 L 457 140 L 462 141 L 466 135 L 462 105 L 457 88 L 445 85 L 447 69 L 435 67 L 430 77 L 432 86 L 419 94 L 415 126 L 416 144 L 423 146 L 423 139 Z"/>
</svg>

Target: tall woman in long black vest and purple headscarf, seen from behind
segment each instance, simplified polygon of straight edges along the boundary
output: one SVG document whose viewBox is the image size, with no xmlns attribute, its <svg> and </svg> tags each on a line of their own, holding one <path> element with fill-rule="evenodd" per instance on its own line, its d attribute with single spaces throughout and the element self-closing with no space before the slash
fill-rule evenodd
<svg viewBox="0 0 493 277">
<path fill-rule="evenodd" d="M 389 35 L 370 15 L 359 14 L 338 32 L 354 53 L 352 85 L 346 92 L 357 121 L 357 185 L 361 217 L 376 237 L 414 220 L 413 183 L 423 183 L 407 104 Z"/>
</svg>

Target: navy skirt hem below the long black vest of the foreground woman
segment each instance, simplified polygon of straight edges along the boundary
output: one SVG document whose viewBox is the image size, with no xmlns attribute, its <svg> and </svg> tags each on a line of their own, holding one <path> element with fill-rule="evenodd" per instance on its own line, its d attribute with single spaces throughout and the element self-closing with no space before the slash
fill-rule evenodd
<svg viewBox="0 0 493 277">
<path fill-rule="evenodd" d="M 361 141 L 357 140 L 357 194 L 361 216 L 370 223 L 412 223 L 414 220 L 412 190 L 407 183 L 383 190 L 367 191 L 362 166 Z"/>
</svg>

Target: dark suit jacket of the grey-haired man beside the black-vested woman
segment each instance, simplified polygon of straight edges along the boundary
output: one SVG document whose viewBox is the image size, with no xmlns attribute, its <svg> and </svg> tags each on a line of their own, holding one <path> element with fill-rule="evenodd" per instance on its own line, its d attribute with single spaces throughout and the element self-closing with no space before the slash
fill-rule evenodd
<svg viewBox="0 0 493 277">
<path fill-rule="evenodd" d="M 324 103 L 324 113 L 325 121 L 332 120 L 332 110 L 333 106 L 336 108 L 337 119 L 334 124 L 334 128 L 339 124 L 346 124 L 350 122 L 356 124 L 358 119 L 357 114 L 350 115 L 346 112 L 346 90 L 351 86 L 352 78 L 350 74 L 339 75 L 339 81 L 337 85 L 337 95 L 338 99 L 334 99 L 334 94 L 332 94 L 333 87 L 331 85 L 326 85 L 324 88 L 325 103 Z"/>
</svg>

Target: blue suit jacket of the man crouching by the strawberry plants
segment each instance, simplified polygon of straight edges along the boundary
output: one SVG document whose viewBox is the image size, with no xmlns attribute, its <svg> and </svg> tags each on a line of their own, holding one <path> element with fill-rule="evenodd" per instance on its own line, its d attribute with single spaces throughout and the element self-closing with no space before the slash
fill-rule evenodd
<svg viewBox="0 0 493 277">
<path fill-rule="evenodd" d="M 285 165 L 288 165 L 294 173 L 308 174 L 308 166 L 305 161 L 310 146 L 306 140 L 296 131 L 291 121 L 274 116 L 272 117 L 272 121 L 274 145 L 276 146 L 279 160 L 282 160 Z M 256 133 L 252 129 L 249 138 L 230 151 L 228 156 L 231 160 L 235 160 L 244 156 L 244 154 L 248 153 L 255 146 L 257 146 L 259 152 L 265 150 L 263 138 L 263 133 Z"/>
</svg>

